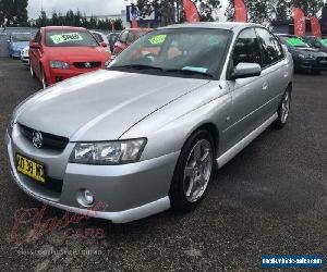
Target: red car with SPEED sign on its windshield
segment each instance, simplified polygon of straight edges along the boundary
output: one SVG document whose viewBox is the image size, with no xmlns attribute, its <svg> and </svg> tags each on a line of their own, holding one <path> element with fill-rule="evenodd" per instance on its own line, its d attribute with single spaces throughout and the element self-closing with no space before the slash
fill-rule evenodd
<svg viewBox="0 0 327 272">
<path fill-rule="evenodd" d="M 29 42 L 31 74 L 43 87 L 105 67 L 111 54 L 85 28 L 47 26 Z"/>
</svg>

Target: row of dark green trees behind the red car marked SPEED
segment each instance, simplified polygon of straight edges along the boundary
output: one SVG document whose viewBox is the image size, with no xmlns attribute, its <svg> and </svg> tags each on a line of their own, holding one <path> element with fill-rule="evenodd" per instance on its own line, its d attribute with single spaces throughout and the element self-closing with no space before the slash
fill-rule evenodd
<svg viewBox="0 0 327 272">
<path fill-rule="evenodd" d="M 41 11 L 39 17 L 36 20 L 36 26 L 47 26 L 47 25 L 66 25 L 66 26 L 81 26 L 88 29 L 108 29 L 111 30 L 110 20 L 98 20 L 95 16 L 86 17 L 82 14 L 80 10 L 76 12 L 69 10 L 65 15 L 61 13 L 52 12 L 51 17 L 47 16 L 45 11 Z M 113 25 L 116 30 L 123 29 L 123 22 L 121 18 L 113 20 Z"/>
</svg>

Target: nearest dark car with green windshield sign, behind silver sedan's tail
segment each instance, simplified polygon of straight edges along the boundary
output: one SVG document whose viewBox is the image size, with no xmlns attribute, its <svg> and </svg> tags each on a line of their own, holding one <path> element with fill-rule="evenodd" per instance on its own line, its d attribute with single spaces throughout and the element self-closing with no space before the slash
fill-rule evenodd
<svg viewBox="0 0 327 272">
<path fill-rule="evenodd" d="M 317 73 L 327 70 L 327 53 L 310 47 L 302 38 L 294 35 L 277 35 L 293 57 L 294 70 Z"/>
</svg>

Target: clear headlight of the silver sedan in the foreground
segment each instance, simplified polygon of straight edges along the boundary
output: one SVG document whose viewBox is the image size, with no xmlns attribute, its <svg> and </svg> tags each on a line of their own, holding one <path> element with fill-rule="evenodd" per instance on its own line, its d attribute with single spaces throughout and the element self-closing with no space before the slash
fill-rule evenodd
<svg viewBox="0 0 327 272">
<path fill-rule="evenodd" d="M 146 139 L 119 141 L 77 143 L 71 153 L 70 162 L 82 164 L 124 164 L 140 159 Z"/>
</svg>

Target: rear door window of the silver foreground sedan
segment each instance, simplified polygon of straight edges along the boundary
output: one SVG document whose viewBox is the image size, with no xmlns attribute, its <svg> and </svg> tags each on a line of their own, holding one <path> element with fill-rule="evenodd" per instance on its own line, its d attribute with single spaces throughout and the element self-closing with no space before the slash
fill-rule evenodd
<svg viewBox="0 0 327 272">
<path fill-rule="evenodd" d="M 263 66 L 269 66 L 283 59 L 283 50 L 278 40 L 266 29 L 256 29 L 263 51 Z"/>
</svg>

